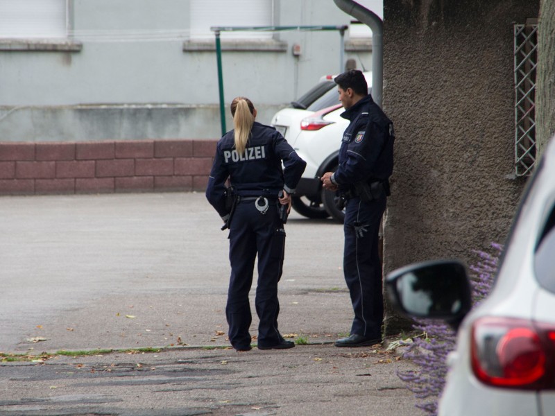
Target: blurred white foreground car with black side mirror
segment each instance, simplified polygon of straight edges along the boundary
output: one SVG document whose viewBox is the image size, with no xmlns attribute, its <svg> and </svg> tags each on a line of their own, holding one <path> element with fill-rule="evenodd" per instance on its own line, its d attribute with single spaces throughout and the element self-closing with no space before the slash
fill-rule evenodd
<svg viewBox="0 0 555 416">
<path fill-rule="evenodd" d="M 403 313 L 460 324 L 439 415 L 555 415 L 555 139 L 529 180 L 484 302 L 468 312 L 470 284 L 457 261 L 395 270 L 386 286 Z"/>
</svg>

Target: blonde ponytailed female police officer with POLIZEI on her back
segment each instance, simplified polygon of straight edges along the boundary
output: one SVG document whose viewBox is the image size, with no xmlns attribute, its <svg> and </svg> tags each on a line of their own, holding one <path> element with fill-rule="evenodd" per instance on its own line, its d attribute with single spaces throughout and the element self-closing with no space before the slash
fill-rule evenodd
<svg viewBox="0 0 555 416">
<path fill-rule="evenodd" d="M 206 189 L 206 198 L 230 229 L 231 277 L 225 306 L 230 343 L 237 351 L 250 349 L 248 293 L 258 254 L 258 348 L 291 348 L 295 344 L 278 331 L 278 281 L 285 247 L 279 207 L 291 209 L 290 195 L 306 162 L 274 128 L 255 122 L 257 112 L 248 98 L 234 98 L 231 114 L 234 130 L 218 141 Z M 233 189 L 232 208 L 225 204 L 227 180 Z"/>
</svg>

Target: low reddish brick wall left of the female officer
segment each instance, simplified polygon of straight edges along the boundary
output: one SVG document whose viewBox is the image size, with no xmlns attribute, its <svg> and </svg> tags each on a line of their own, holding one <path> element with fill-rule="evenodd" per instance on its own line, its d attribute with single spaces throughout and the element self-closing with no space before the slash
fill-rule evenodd
<svg viewBox="0 0 555 416">
<path fill-rule="evenodd" d="M 216 140 L 0 143 L 0 195 L 203 191 Z"/>
</svg>

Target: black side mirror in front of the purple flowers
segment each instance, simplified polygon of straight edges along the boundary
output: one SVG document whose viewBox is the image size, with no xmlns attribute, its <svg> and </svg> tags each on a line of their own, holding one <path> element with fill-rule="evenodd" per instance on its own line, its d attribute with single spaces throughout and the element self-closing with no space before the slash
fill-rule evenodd
<svg viewBox="0 0 555 416">
<path fill-rule="evenodd" d="M 460 261 L 415 263 L 386 277 L 393 307 L 411 318 L 445 320 L 454 329 L 472 308 L 470 281 Z"/>
</svg>

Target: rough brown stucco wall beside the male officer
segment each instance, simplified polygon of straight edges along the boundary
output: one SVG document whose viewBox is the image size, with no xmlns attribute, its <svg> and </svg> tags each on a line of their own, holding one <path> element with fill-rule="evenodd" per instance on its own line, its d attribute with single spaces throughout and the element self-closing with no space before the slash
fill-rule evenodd
<svg viewBox="0 0 555 416">
<path fill-rule="evenodd" d="M 513 24 L 539 1 L 384 0 L 384 110 L 397 135 L 384 272 L 504 243 L 513 175 Z"/>
</svg>

